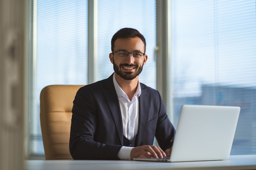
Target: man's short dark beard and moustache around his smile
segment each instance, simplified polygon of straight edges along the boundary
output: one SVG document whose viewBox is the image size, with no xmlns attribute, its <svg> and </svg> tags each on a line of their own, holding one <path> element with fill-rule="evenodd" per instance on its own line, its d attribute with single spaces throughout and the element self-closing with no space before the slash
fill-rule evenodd
<svg viewBox="0 0 256 170">
<path fill-rule="evenodd" d="M 126 79 L 126 80 L 135 79 L 135 77 L 137 77 L 141 73 L 142 68 L 143 68 L 143 65 L 138 66 L 136 64 L 120 64 L 119 66 L 117 66 L 117 64 L 115 64 L 114 59 L 113 59 L 113 66 L 114 66 L 115 73 L 117 73 L 117 75 L 119 75 L 120 77 L 122 77 L 123 79 Z M 121 66 L 132 66 L 132 67 L 135 67 L 135 69 L 137 69 L 137 71 L 135 71 L 135 73 L 122 72 Z"/>
</svg>

